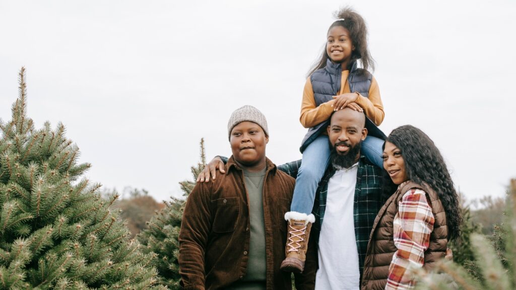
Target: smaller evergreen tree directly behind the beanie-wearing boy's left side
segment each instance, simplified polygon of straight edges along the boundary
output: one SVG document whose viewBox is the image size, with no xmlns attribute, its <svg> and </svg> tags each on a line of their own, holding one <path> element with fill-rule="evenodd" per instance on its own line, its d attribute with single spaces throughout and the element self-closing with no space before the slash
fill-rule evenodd
<svg viewBox="0 0 516 290">
<path fill-rule="evenodd" d="M 181 218 L 185 207 L 186 198 L 195 186 L 195 180 L 206 165 L 204 155 L 204 140 L 201 139 L 201 162 L 191 167 L 193 175 L 192 181 L 180 182 L 183 196 L 185 199 L 172 198 L 171 201 L 164 201 L 165 208 L 156 213 L 148 222 L 149 227 L 143 230 L 138 238 L 142 245 L 147 246 L 144 250 L 148 253 L 158 254 L 156 267 L 159 272 L 160 283 L 167 285 L 170 289 L 180 289 L 179 281 L 179 230 L 181 228 Z"/>
</svg>

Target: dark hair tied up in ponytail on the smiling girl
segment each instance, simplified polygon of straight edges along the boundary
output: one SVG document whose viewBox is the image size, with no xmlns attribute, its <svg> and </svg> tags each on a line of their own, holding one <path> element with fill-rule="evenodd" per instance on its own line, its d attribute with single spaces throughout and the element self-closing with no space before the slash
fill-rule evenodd
<svg viewBox="0 0 516 290">
<path fill-rule="evenodd" d="M 343 8 L 340 11 L 335 12 L 334 16 L 338 20 L 330 25 L 328 31 L 330 31 L 330 29 L 335 26 L 342 26 L 348 29 L 351 37 L 351 42 L 355 47 L 354 51 L 351 53 L 349 66 L 351 66 L 354 61 L 360 59 L 362 61 L 362 67 L 364 68 L 364 70 L 367 70 L 370 67 L 374 71 L 375 63 L 369 53 L 369 49 L 367 48 L 367 26 L 365 25 L 364 19 L 360 16 L 359 13 L 355 12 L 353 9 L 349 7 Z M 310 69 L 308 75 L 311 75 L 318 69 L 326 67 L 326 61 L 328 60 L 328 58 L 329 56 L 326 52 L 325 45 L 324 49 L 322 50 L 322 54 L 320 56 L 319 61 L 317 61 L 314 64 L 314 66 Z"/>
</svg>

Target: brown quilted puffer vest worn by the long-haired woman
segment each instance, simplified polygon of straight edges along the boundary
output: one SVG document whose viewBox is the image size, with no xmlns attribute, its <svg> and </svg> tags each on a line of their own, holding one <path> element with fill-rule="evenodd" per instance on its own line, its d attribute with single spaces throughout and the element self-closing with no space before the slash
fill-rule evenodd
<svg viewBox="0 0 516 290">
<path fill-rule="evenodd" d="M 362 275 L 362 290 L 384 289 L 389 275 L 389 266 L 397 248 L 394 245 L 393 222 L 398 212 L 398 204 L 403 195 L 411 188 L 420 188 L 426 192 L 434 216 L 433 231 L 430 234 L 430 243 L 425 251 L 423 268 L 429 270 L 434 263 L 446 254 L 448 243 L 448 227 L 446 213 L 437 193 L 430 187 L 419 185 L 412 181 L 396 190 L 380 208 L 373 224 L 373 229 L 367 244 L 367 253 Z"/>
</svg>

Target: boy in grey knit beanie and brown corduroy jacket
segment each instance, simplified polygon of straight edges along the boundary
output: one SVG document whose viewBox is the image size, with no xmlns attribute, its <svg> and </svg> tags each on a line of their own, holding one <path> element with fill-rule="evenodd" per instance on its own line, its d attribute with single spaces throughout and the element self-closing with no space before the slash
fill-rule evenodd
<svg viewBox="0 0 516 290">
<path fill-rule="evenodd" d="M 291 289 L 291 274 L 280 265 L 295 180 L 265 155 L 269 133 L 262 112 L 252 106 L 235 110 L 228 135 L 233 155 L 225 174 L 198 183 L 186 202 L 179 234 L 182 286 Z M 296 288 L 313 289 L 315 272 L 315 259 L 307 259 Z"/>
</svg>

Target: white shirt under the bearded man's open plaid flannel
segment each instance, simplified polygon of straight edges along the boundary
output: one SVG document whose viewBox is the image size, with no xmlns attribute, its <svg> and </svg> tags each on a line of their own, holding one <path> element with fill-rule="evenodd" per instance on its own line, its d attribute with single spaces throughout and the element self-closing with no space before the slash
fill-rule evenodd
<svg viewBox="0 0 516 290">
<path fill-rule="evenodd" d="M 328 182 L 326 211 L 319 235 L 316 290 L 359 290 L 360 269 L 353 202 L 358 163 L 335 172 Z"/>
</svg>

